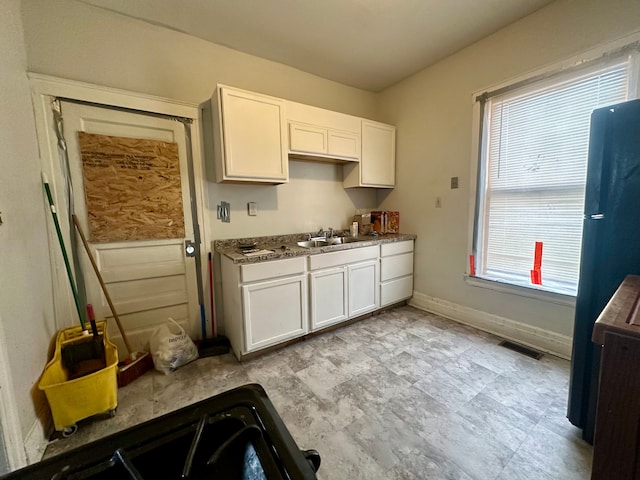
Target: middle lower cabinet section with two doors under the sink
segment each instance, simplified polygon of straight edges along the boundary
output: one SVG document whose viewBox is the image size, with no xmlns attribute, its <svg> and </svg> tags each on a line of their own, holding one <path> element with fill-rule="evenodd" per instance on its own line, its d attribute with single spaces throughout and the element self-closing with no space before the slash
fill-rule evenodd
<svg viewBox="0 0 640 480">
<path fill-rule="evenodd" d="M 313 255 L 309 268 L 312 331 L 378 308 L 378 246 Z"/>
</svg>

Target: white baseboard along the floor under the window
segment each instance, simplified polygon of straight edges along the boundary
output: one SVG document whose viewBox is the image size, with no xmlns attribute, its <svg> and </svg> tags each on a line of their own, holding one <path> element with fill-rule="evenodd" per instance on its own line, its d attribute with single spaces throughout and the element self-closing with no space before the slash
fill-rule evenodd
<svg viewBox="0 0 640 480">
<path fill-rule="evenodd" d="M 572 338 L 505 317 L 414 292 L 409 305 L 557 357 L 571 358 Z"/>
</svg>

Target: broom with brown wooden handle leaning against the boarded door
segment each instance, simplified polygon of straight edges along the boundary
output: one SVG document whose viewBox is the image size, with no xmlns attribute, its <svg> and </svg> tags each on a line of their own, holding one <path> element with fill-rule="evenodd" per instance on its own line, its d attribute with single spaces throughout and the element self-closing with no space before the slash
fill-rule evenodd
<svg viewBox="0 0 640 480">
<path fill-rule="evenodd" d="M 78 217 L 75 214 L 71 215 L 73 218 L 73 223 L 78 230 L 78 234 L 80 235 L 80 239 L 82 240 L 82 245 L 84 245 L 84 249 L 87 252 L 87 256 L 91 261 L 91 266 L 93 267 L 93 271 L 96 272 L 96 276 L 98 277 L 98 282 L 100 282 L 100 287 L 102 287 L 102 292 L 104 293 L 105 298 L 107 299 L 107 303 L 109 304 L 109 308 L 111 309 L 111 314 L 118 325 L 118 330 L 120 330 L 120 335 L 122 335 L 122 340 L 124 341 L 124 345 L 127 348 L 127 353 L 129 357 L 118 364 L 118 387 L 124 387 L 129 383 L 133 382 L 136 378 L 140 377 L 147 371 L 153 368 L 153 359 L 149 352 L 134 352 L 131 348 L 131 344 L 129 343 L 129 339 L 127 335 L 124 333 L 124 329 L 122 328 L 122 324 L 120 323 L 120 318 L 116 313 L 116 309 L 113 306 L 113 302 L 111 301 L 111 296 L 107 291 L 107 286 L 102 280 L 102 275 L 100 274 L 100 270 L 98 270 L 98 265 L 91 254 L 91 249 L 89 248 L 89 244 L 87 243 L 87 239 L 84 236 L 82 231 L 82 227 L 80 227 L 80 223 L 78 222 Z"/>
</svg>

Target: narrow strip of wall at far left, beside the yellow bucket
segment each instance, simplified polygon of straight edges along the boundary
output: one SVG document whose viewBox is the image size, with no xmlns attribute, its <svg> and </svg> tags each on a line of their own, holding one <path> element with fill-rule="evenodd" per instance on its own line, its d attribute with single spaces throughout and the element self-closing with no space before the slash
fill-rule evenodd
<svg viewBox="0 0 640 480">
<path fill-rule="evenodd" d="M 8 371 L 8 378 L 0 375 L 6 382 L 0 388 L 14 392 L 15 400 L 9 407 L 15 407 L 16 416 L 3 427 L 11 428 L 7 423 L 16 422 L 15 434 L 22 437 L 5 438 L 5 444 L 20 445 L 46 405 L 37 381 L 55 325 L 45 199 L 26 76 L 20 1 L 3 1 L 0 12 L 0 349 L 1 357 L 8 359 L 0 366 Z"/>
</svg>

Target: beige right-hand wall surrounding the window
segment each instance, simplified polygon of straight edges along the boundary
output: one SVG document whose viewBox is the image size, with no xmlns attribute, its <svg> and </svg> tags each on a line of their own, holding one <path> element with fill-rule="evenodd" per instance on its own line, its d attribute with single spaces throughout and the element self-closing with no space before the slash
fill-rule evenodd
<svg viewBox="0 0 640 480">
<path fill-rule="evenodd" d="M 417 292 L 571 335 L 572 307 L 467 285 L 472 93 L 564 60 L 640 26 L 638 0 L 559 0 L 381 93 L 397 125 L 397 186 L 382 208 L 416 233 Z M 449 188 L 450 177 L 460 188 Z M 442 208 L 435 208 L 436 197 Z"/>
</svg>

